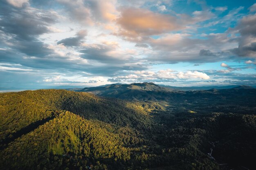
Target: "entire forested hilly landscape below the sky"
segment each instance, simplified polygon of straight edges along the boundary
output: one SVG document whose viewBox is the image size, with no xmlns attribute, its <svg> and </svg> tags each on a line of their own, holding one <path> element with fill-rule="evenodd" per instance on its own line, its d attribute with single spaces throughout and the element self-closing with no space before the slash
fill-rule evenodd
<svg viewBox="0 0 256 170">
<path fill-rule="evenodd" d="M 0 93 L 0 169 L 254 170 L 255 101 L 153 83 Z"/>
</svg>

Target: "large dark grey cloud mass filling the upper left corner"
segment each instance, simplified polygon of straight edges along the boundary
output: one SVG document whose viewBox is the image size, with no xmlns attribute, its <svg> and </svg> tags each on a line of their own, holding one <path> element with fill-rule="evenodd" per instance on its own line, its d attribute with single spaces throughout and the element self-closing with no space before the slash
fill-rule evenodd
<svg viewBox="0 0 256 170">
<path fill-rule="evenodd" d="M 56 22 L 57 15 L 29 6 L 15 8 L 1 2 L 0 35 L 2 46 L 10 47 L 29 56 L 43 57 L 53 50 L 40 42 L 38 36 L 51 32 L 50 26 Z"/>
</svg>

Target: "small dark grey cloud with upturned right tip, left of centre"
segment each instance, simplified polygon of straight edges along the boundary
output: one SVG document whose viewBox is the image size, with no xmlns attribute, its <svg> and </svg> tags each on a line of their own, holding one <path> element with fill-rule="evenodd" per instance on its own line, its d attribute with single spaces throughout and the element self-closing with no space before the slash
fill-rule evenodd
<svg viewBox="0 0 256 170">
<path fill-rule="evenodd" d="M 60 40 L 57 42 L 57 44 L 63 44 L 64 46 L 79 46 L 81 43 L 83 43 L 82 40 L 86 35 L 86 30 L 80 30 L 76 33 L 76 36 Z"/>
</svg>

